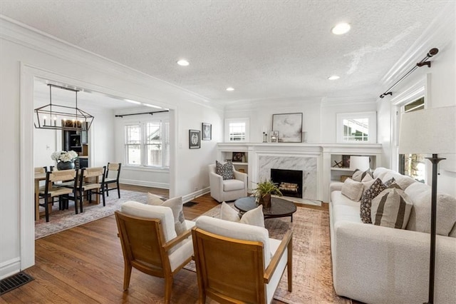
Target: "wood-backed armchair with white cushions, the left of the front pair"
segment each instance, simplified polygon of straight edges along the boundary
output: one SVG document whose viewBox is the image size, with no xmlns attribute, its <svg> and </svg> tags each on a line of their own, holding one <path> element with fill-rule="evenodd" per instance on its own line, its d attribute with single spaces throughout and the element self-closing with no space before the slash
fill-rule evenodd
<svg viewBox="0 0 456 304">
<path fill-rule="evenodd" d="M 192 260 L 195 223 L 185 221 L 189 229 L 177 236 L 171 208 L 134 201 L 123 203 L 115 220 L 125 262 L 123 290 L 128 290 L 131 270 L 136 268 L 165 278 L 165 303 L 170 303 L 173 275 Z"/>
</svg>

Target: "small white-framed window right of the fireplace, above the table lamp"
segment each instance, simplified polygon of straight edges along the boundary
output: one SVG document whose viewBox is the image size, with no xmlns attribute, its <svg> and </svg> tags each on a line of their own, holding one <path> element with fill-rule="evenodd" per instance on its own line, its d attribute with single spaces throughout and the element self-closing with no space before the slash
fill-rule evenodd
<svg viewBox="0 0 456 304">
<path fill-rule="evenodd" d="M 338 113 L 337 114 L 338 143 L 376 143 L 377 114 Z"/>
</svg>

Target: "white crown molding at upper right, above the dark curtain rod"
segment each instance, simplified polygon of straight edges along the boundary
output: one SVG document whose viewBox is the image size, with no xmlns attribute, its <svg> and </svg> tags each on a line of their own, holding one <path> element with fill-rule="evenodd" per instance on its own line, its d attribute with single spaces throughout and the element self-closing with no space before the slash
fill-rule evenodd
<svg viewBox="0 0 456 304">
<path fill-rule="evenodd" d="M 400 77 L 412 69 L 432 48 L 445 51 L 450 41 L 455 39 L 455 14 L 456 2 L 448 1 L 442 6 L 442 11 L 423 31 L 423 34 L 410 46 L 408 51 L 400 57 L 393 67 L 383 76 L 380 83 L 384 88 L 389 88 Z M 438 60 L 439 54 L 430 61 Z M 424 68 L 425 69 L 425 68 Z"/>
</svg>

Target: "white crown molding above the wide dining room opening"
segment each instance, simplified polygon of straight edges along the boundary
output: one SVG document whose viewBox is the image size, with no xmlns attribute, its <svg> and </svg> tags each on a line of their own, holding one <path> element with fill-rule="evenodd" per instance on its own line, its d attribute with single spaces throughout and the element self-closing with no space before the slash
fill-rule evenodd
<svg viewBox="0 0 456 304">
<path fill-rule="evenodd" d="M 200 106 L 215 108 L 217 110 L 223 108 L 222 105 L 214 103 L 197 93 L 82 49 L 79 46 L 70 44 L 4 15 L 0 15 L 0 28 L 0 39 L 11 41 L 14 44 L 48 54 L 63 61 L 68 61 L 71 64 L 83 66 L 88 70 L 109 74 L 115 78 L 127 79 L 131 83 L 140 86 L 152 87 L 161 96 L 167 96 L 168 99 L 197 103 Z M 160 98 L 163 100 L 159 100 L 158 98 L 152 99 L 147 97 L 147 99 L 149 101 L 156 101 L 157 103 L 167 103 L 165 98 Z"/>
</svg>

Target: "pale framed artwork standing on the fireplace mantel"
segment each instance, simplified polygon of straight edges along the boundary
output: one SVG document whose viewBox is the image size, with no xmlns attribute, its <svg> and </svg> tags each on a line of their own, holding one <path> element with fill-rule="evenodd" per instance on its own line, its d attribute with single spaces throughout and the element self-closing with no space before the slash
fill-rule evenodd
<svg viewBox="0 0 456 304">
<path fill-rule="evenodd" d="M 272 129 L 279 131 L 279 143 L 301 143 L 302 113 L 272 114 Z"/>
</svg>

